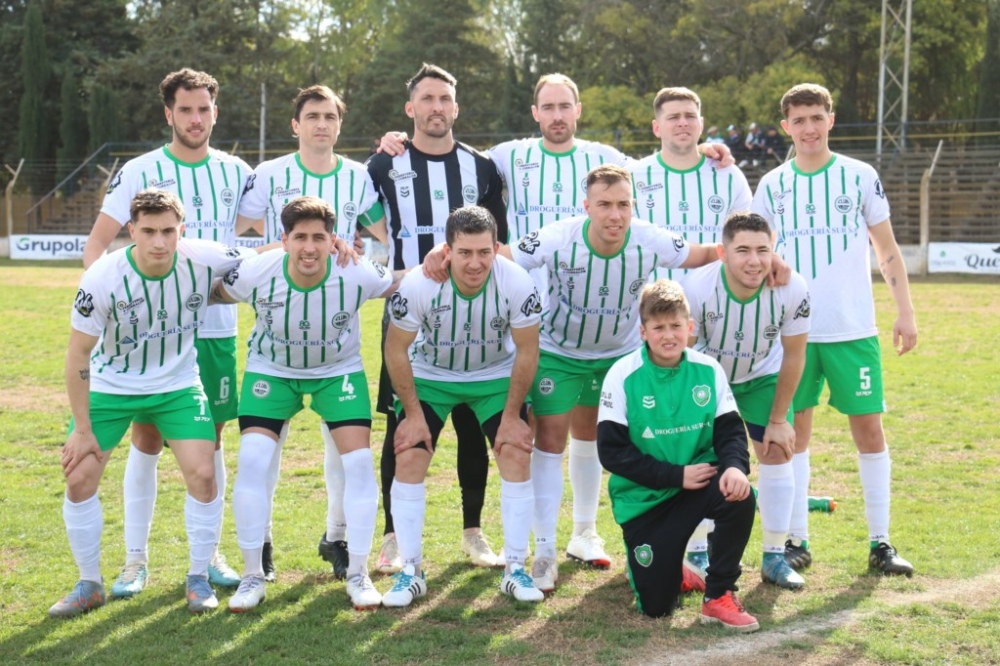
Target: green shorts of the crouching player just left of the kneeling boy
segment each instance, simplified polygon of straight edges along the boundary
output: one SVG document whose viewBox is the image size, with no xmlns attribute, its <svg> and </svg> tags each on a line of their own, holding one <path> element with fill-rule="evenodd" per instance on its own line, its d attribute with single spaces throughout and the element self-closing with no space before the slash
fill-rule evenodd
<svg viewBox="0 0 1000 666">
<path fill-rule="evenodd" d="M 531 384 L 531 411 L 535 416 L 565 414 L 577 405 L 596 407 L 604 375 L 621 356 L 576 359 L 543 351 Z"/>
</svg>

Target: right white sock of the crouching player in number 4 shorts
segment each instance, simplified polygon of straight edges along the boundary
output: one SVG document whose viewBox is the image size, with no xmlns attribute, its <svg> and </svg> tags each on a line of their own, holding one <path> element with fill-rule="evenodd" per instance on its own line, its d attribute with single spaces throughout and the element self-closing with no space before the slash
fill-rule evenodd
<svg viewBox="0 0 1000 666">
<path fill-rule="evenodd" d="M 358 449 L 337 456 L 343 461 L 341 473 L 346 477 L 342 495 L 343 512 L 347 520 L 347 553 L 350 563 L 347 576 L 364 571 L 364 563 L 371 552 L 375 536 L 375 514 L 378 513 L 378 486 L 375 484 L 375 463 L 371 449 Z M 331 503 L 332 504 L 332 503 Z M 327 532 L 327 540 L 330 534 Z M 338 539 L 339 540 L 339 539 Z"/>
</svg>

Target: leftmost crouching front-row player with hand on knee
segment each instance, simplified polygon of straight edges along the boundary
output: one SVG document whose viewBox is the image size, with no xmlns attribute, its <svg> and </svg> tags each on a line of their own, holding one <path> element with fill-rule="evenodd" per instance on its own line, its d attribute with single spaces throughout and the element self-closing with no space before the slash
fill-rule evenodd
<svg viewBox="0 0 1000 666">
<path fill-rule="evenodd" d="M 195 337 L 212 276 L 236 267 L 248 251 L 178 241 L 183 219 L 184 208 L 173 194 L 140 192 L 129 212 L 133 244 L 95 261 L 80 281 L 66 353 L 73 421 L 62 454 L 63 519 L 80 580 L 49 609 L 52 617 L 104 604 L 104 519 L 97 490 L 111 450 L 133 419 L 154 424 L 170 439 L 187 486 L 188 608 L 198 613 L 219 603 L 207 574 L 219 538 L 222 496 L 212 454 L 215 426 L 198 379 Z"/>
</svg>

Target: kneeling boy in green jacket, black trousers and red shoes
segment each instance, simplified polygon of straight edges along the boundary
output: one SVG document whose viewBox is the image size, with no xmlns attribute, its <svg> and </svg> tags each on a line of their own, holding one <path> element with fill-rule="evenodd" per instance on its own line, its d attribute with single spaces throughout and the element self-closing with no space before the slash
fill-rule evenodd
<svg viewBox="0 0 1000 666">
<path fill-rule="evenodd" d="M 611 472 L 611 508 L 639 610 L 651 617 L 673 612 L 685 544 L 710 516 L 716 537 L 701 622 L 756 631 L 760 625 L 734 594 L 754 519 L 746 429 L 722 368 L 686 348 L 689 314 L 676 282 L 643 289 L 644 344 L 604 379 L 598 453 Z"/>
</svg>

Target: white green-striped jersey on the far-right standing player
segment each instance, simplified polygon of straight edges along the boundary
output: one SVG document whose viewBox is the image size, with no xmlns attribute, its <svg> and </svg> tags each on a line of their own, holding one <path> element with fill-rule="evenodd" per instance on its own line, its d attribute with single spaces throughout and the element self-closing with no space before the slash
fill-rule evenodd
<svg viewBox="0 0 1000 666">
<path fill-rule="evenodd" d="M 778 252 L 809 285 L 810 342 L 878 333 L 868 228 L 889 219 L 889 202 L 875 169 L 836 153 L 814 173 L 790 160 L 761 178 L 752 210 L 771 223 Z"/>
</svg>

